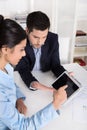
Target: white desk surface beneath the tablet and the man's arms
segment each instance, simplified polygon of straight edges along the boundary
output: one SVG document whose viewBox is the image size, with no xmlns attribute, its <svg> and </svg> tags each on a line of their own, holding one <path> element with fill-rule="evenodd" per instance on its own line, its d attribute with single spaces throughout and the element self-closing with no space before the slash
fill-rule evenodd
<svg viewBox="0 0 87 130">
<path fill-rule="evenodd" d="M 83 85 L 87 85 L 87 72 L 82 67 L 80 67 L 78 64 L 64 65 L 64 67 L 68 71 L 73 71 L 75 78 L 79 79 L 81 83 L 83 83 Z M 33 72 L 33 74 L 41 83 L 49 86 L 55 79 L 52 72 L 41 73 L 36 71 Z M 84 75 L 86 76 L 86 78 Z M 17 85 L 21 87 L 21 90 L 26 95 L 25 103 L 29 108 L 27 115 L 31 116 L 52 101 L 53 97 L 51 92 L 41 90 L 30 91 L 23 83 L 17 72 L 14 73 L 14 76 Z M 75 115 L 73 111 L 74 101 L 75 100 L 72 100 L 66 106 L 62 107 L 60 110 L 60 117 L 51 121 L 41 130 L 87 130 L 87 121 L 75 120 Z"/>
</svg>

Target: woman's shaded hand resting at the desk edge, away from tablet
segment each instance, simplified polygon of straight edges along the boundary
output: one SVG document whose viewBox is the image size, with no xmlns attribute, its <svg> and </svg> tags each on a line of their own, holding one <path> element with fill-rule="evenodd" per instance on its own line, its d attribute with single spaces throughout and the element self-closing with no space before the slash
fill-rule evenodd
<svg viewBox="0 0 87 130">
<path fill-rule="evenodd" d="M 16 101 L 16 108 L 18 109 L 18 111 L 24 115 L 26 115 L 27 113 L 27 107 L 26 105 L 24 104 L 23 100 L 21 98 L 19 98 L 17 101 Z"/>
</svg>

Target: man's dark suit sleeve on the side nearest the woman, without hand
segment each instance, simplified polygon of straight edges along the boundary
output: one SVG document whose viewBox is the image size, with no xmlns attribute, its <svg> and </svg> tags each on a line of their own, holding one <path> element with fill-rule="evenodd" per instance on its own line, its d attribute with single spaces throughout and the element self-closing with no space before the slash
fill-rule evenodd
<svg viewBox="0 0 87 130">
<path fill-rule="evenodd" d="M 30 71 L 29 60 L 27 57 L 23 57 L 14 70 L 19 72 L 22 80 L 28 88 L 30 87 L 31 82 L 37 81 Z"/>
</svg>

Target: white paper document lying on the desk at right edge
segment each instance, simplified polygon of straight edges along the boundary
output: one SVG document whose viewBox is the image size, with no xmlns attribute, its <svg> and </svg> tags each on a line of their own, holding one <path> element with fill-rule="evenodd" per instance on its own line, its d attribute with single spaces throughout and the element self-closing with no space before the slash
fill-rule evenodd
<svg viewBox="0 0 87 130">
<path fill-rule="evenodd" d="M 87 123 L 87 88 L 73 100 L 73 120 Z"/>
</svg>

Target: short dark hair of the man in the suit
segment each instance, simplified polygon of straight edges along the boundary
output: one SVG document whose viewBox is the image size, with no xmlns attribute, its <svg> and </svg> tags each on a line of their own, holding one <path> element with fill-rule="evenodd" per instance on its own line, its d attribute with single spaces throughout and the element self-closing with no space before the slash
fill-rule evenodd
<svg viewBox="0 0 87 130">
<path fill-rule="evenodd" d="M 50 28 L 50 20 L 48 16 L 41 12 L 41 11 L 35 11 L 30 13 L 27 16 L 27 28 L 29 29 L 29 32 L 32 32 L 33 29 L 37 30 L 45 30 Z"/>
</svg>

